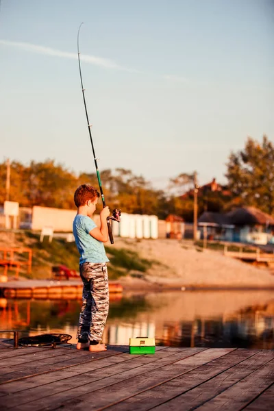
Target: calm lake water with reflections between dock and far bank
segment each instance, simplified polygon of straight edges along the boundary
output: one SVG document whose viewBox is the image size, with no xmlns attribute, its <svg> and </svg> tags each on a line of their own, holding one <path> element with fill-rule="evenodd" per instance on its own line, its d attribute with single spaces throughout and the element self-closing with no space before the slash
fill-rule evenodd
<svg viewBox="0 0 274 411">
<path fill-rule="evenodd" d="M 2 298 L 0 327 L 29 335 L 62 332 L 76 343 L 81 303 Z M 103 342 L 128 345 L 130 337 L 148 336 L 173 347 L 274 349 L 273 329 L 272 291 L 125 293 L 111 296 Z"/>
</svg>

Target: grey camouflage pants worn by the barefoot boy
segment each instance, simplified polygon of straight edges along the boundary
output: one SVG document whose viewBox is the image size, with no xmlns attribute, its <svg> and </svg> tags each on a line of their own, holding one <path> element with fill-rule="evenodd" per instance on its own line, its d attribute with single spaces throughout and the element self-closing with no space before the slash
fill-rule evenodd
<svg viewBox="0 0 274 411">
<path fill-rule="evenodd" d="M 107 264 L 84 262 L 80 276 L 84 286 L 77 338 L 100 341 L 109 308 Z"/>
</svg>

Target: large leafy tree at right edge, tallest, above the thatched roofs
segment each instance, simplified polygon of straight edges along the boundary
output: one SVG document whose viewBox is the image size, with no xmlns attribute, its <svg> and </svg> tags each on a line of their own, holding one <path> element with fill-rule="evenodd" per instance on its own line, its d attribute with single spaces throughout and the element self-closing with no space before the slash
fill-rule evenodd
<svg viewBox="0 0 274 411">
<path fill-rule="evenodd" d="M 240 198 L 238 205 L 254 206 L 274 212 L 274 146 L 264 136 L 262 144 L 249 137 L 245 149 L 229 155 L 229 189 Z"/>
</svg>

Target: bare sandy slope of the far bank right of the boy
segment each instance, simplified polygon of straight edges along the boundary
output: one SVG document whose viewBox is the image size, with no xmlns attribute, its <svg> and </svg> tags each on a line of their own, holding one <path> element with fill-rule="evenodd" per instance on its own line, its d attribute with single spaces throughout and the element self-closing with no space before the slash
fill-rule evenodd
<svg viewBox="0 0 274 411">
<path fill-rule="evenodd" d="M 178 286 L 274 287 L 274 275 L 245 262 L 223 256 L 219 251 L 197 251 L 191 242 L 177 240 L 124 240 L 117 238 L 112 247 L 125 247 L 153 264 L 147 280 Z M 126 280 L 129 284 L 129 279 Z M 134 281 L 131 280 L 132 286 Z M 136 282 L 137 283 L 137 282 Z"/>
</svg>

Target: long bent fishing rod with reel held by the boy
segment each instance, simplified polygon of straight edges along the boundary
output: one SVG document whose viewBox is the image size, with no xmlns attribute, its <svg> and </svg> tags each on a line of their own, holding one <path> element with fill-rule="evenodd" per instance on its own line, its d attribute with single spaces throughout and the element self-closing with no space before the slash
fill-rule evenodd
<svg viewBox="0 0 274 411">
<path fill-rule="evenodd" d="M 99 169 L 98 169 L 98 164 L 97 164 L 97 160 L 99 160 L 99 159 L 96 158 L 95 148 L 94 148 L 93 141 L 92 141 L 92 134 L 91 134 L 91 131 L 90 131 L 90 129 L 91 129 L 91 127 L 92 127 L 92 124 L 90 124 L 90 121 L 89 121 L 89 119 L 88 119 L 88 110 L 87 110 L 87 108 L 86 108 L 85 89 L 84 89 L 84 86 L 83 86 L 83 79 L 82 79 L 81 62 L 80 62 L 80 52 L 79 52 L 79 32 L 80 32 L 80 29 L 81 29 L 81 27 L 82 27 L 82 24 L 84 24 L 84 23 L 81 23 L 81 24 L 79 25 L 78 35 L 77 35 L 77 51 L 78 51 L 79 74 L 80 74 L 80 79 L 81 79 L 82 95 L 83 95 L 85 112 L 86 112 L 86 121 L 87 121 L 87 123 L 88 123 L 88 133 L 89 133 L 89 135 L 90 135 L 90 142 L 91 142 L 91 147 L 92 147 L 93 158 L 94 158 L 94 161 L 95 161 L 95 169 L 96 169 L 96 174 L 97 174 L 99 189 L 100 189 L 100 192 L 101 192 L 101 198 L 102 198 L 103 208 L 105 208 L 105 196 L 103 195 L 103 187 L 102 187 L 101 177 L 100 177 L 100 173 L 99 173 Z M 113 240 L 112 227 L 111 227 L 111 225 L 110 225 L 110 220 L 114 220 L 114 221 L 118 221 L 118 222 L 119 222 L 119 221 L 120 221 L 120 216 L 121 216 L 121 210 L 119 210 L 118 208 L 115 208 L 115 209 L 113 210 L 113 212 L 112 212 L 112 216 L 109 216 L 109 217 L 107 218 L 107 223 L 108 223 L 108 236 L 109 236 L 109 238 L 110 238 L 111 244 L 114 243 L 114 240 Z"/>
</svg>

